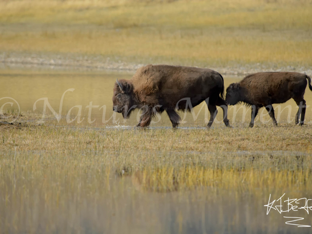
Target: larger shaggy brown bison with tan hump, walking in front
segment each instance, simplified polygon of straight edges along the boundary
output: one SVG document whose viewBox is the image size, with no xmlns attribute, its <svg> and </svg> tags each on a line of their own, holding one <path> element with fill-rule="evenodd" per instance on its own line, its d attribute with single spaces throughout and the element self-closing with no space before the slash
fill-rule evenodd
<svg viewBox="0 0 312 234">
<path fill-rule="evenodd" d="M 216 105 L 223 109 L 223 121 L 229 126 L 223 92 L 223 78 L 213 70 L 147 65 L 139 68 L 132 79 L 116 81 L 113 111 L 128 118 L 133 110 L 142 109 L 138 127 L 148 126 L 156 113 L 166 111 L 175 128 L 180 121 L 177 109 L 191 110 L 206 101 L 210 112 L 207 126 L 213 124 L 217 113 Z"/>
</svg>

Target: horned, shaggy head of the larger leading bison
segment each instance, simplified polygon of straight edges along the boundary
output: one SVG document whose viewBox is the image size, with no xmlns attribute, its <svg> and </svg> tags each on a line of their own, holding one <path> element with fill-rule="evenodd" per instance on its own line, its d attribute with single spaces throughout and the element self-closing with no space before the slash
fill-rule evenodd
<svg viewBox="0 0 312 234">
<path fill-rule="evenodd" d="M 116 80 L 113 95 L 113 111 L 121 113 L 124 118 L 130 117 L 137 107 L 134 105 L 133 86 L 127 80 Z"/>
</svg>

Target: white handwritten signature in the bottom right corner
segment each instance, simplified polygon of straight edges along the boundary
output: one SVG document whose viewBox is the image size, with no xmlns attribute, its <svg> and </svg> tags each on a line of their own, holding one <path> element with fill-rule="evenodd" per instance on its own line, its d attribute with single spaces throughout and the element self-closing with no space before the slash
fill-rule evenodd
<svg viewBox="0 0 312 234">
<path fill-rule="evenodd" d="M 282 214 L 282 212 L 290 212 L 290 211 L 298 211 L 301 209 L 304 209 L 308 214 L 309 214 L 309 210 L 312 211 L 312 206 L 308 206 L 308 202 L 312 202 L 312 199 L 307 199 L 307 198 L 294 198 L 294 199 L 287 199 L 284 202 L 287 202 L 287 210 L 283 210 L 283 205 L 282 205 L 282 197 L 285 194 L 283 194 L 280 198 L 278 198 L 277 200 L 273 200 L 272 202 L 270 202 L 271 200 L 271 194 L 269 197 L 269 202 L 267 205 L 264 205 L 267 207 L 267 215 L 269 215 L 270 210 L 273 209 L 275 211 L 277 211 L 279 214 Z M 274 205 L 274 203 L 277 203 L 279 205 Z M 304 204 L 304 206 L 302 206 Z M 284 206 L 284 207 L 286 207 Z M 286 224 L 290 224 L 290 225 L 296 225 L 298 227 L 311 227 L 309 225 L 301 225 L 301 224 L 295 224 L 294 222 L 299 221 L 299 220 L 303 220 L 304 218 L 301 217 L 286 217 L 284 216 L 284 218 L 292 218 L 293 220 L 287 221 L 285 222 Z"/>
</svg>

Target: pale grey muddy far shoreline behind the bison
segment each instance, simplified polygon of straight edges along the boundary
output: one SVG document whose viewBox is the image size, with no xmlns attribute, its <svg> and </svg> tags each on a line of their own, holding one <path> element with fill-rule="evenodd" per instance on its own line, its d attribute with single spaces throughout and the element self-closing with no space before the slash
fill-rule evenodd
<svg viewBox="0 0 312 234">
<path fill-rule="evenodd" d="M 81 71 L 120 71 L 134 73 L 139 67 L 146 64 L 129 63 L 122 60 L 115 61 L 103 56 L 85 55 L 46 55 L 46 54 L 26 54 L 26 53 L 0 53 L 0 69 L 33 68 L 33 69 L 53 69 L 53 70 L 81 70 Z M 179 64 L 174 64 L 179 65 Z M 182 64 L 188 65 L 188 64 Z M 312 67 L 295 66 L 268 66 L 264 64 L 246 64 L 234 66 L 210 66 L 222 75 L 245 76 L 256 72 L 266 71 L 289 71 L 300 72 L 312 76 Z"/>
</svg>

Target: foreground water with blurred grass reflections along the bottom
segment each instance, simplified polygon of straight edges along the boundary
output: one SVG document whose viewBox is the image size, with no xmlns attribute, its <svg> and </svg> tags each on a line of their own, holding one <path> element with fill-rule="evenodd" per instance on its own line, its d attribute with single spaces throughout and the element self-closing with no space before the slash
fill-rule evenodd
<svg viewBox="0 0 312 234">
<path fill-rule="evenodd" d="M 266 215 L 269 193 L 261 190 L 202 187 L 157 193 L 141 188 L 135 175 L 84 171 L 74 179 L 74 174 L 61 174 L 65 177 L 47 169 L 46 178 L 40 178 L 18 171 L 16 187 L 13 175 L 7 175 L 0 192 L 1 233 L 311 233 L 285 224 L 289 220 L 283 216 L 299 215 L 305 221 L 298 223 L 309 225 L 303 210 Z M 283 195 L 271 193 L 274 199 Z"/>
</svg>

